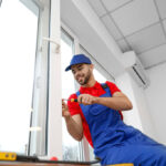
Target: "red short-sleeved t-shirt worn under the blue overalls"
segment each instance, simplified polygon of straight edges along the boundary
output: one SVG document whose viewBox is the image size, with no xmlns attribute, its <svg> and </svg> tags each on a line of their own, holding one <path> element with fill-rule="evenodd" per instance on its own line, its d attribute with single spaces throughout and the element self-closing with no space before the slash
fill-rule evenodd
<svg viewBox="0 0 166 166">
<path fill-rule="evenodd" d="M 121 92 L 121 90 L 112 82 L 108 82 L 106 81 L 106 84 L 107 86 L 110 87 L 110 91 L 111 91 L 111 94 L 113 95 L 115 92 Z M 103 87 L 101 86 L 101 84 L 98 82 L 95 83 L 94 86 L 92 87 L 80 87 L 80 93 L 81 94 L 90 94 L 90 95 L 93 95 L 93 96 L 101 96 L 102 94 L 105 93 L 105 90 L 103 90 Z M 69 100 L 71 98 L 77 98 L 76 94 L 72 94 Z M 89 125 L 87 125 L 87 122 L 82 113 L 82 110 L 79 105 L 79 103 L 75 103 L 75 102 L 68 102 L 68 106 L 69 106 L 69 111 L 71 113 L 71 115 L 75 115 L 75 114 L 80 114 L 81 117 L 82 117 L 82 123 L 83 123 L 83 131 L 84 131 L 84 135 L 86 137 L 86 139 L 89 141 L 90 145 L 93 146 L 93 143 L 92 143 L 92 137 L 91 137 L 91 133 L 90 133 L 90 128 L 89 128 Z M 121 114 L 121 117 L 123 120 L 123 115 L 122 113 L 120 112 Z"/>
</svg>

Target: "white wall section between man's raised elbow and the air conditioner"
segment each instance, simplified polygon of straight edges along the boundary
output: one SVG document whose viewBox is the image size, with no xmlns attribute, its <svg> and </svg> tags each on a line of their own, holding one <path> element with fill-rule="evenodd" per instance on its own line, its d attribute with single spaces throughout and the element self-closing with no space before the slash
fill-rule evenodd
<svg viewBox="0 0 166 166">
<path fill-rule="evenodd" d="M 139 87 L 127 72 L 116 77 L 116 84 L 133 104 L 132 111 L 123 112 L 124 122 L 156 138 L 143 87 Z"/>
</svg>

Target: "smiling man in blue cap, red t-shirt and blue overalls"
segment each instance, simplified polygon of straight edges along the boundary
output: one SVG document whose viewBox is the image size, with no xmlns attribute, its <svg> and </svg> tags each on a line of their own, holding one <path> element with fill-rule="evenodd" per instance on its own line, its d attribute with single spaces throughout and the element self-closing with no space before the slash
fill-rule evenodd
<svg viewBox="0 0 166 166">
<path fill-rule="evenodd" d="M 95 81 L 93 68 L 87 56 L 77 54 L 65 69 L 72 71 L 81 85 L 68 104 L 62 101 L 69 133 L 76 141 L 85 135 L 102 165 L 166 166 L 166 147 L 123 123 L 120 111 L 132 110 L 131 101 L 114 83 Z M 77 98 L 77 102 L 71 102 L 71 98 Z"/>
</svg>

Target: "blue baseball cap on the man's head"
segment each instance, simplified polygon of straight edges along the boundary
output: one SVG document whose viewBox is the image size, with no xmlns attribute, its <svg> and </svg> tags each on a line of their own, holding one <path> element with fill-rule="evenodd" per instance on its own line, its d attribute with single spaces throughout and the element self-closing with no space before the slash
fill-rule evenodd
<svg viewBox="0 0 166 166">
<path fill-rule="evenodd" d="M 86 63 L 86 64 L 92 64 L 91 60 L 85 56 L 84 54 L 75 54 L 73 55 L 70 65 L 65 69 L 65 71 L 71 70 L 71 66 L 74 64 L 80 64 L 80 63 Z"/>
</svg>

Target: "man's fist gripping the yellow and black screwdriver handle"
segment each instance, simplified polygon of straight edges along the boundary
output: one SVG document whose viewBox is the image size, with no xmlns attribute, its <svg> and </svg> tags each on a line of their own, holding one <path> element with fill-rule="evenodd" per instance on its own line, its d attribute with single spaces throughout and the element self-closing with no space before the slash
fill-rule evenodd
<svg viewBox="0 0 166 166">
<path fill-rule="evenodd" d="M 90 94 L 81 94 L 79 97 L 77 97 L 77 102 L 80 104 L 84 104 L 84 105 L 91 105 L 91 104 L 94 104 L 96 103 L 96 98 L 95 96 L 92 96 Z"/>
</svg>

